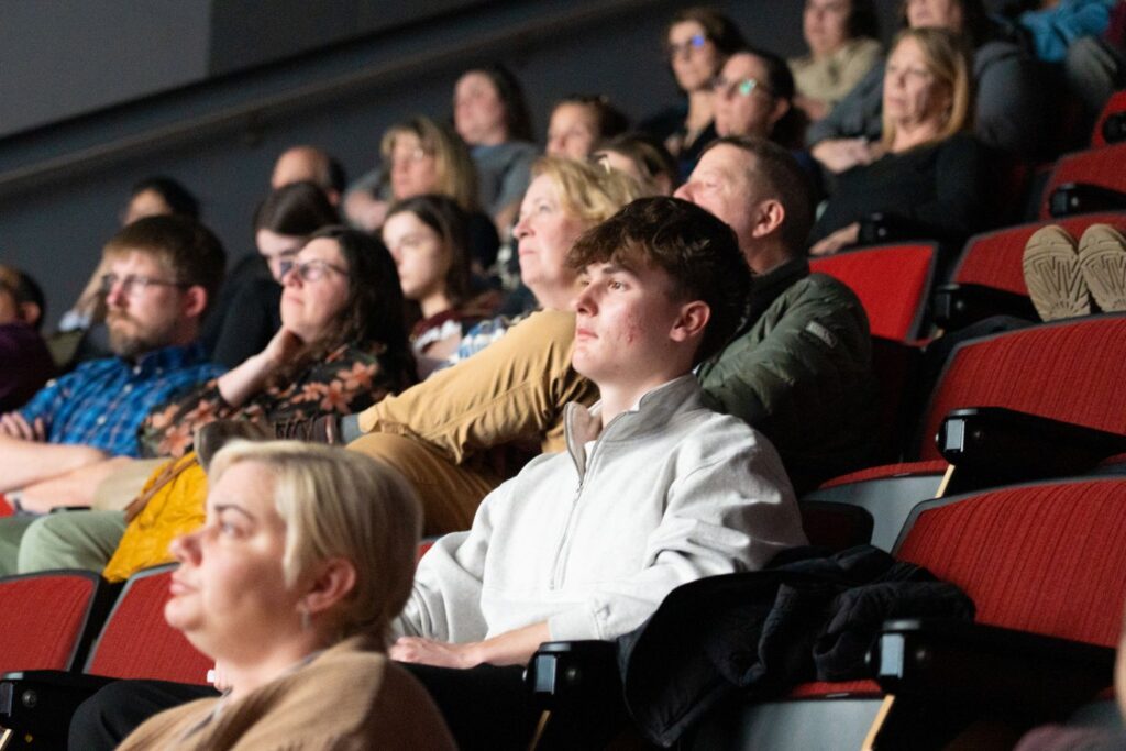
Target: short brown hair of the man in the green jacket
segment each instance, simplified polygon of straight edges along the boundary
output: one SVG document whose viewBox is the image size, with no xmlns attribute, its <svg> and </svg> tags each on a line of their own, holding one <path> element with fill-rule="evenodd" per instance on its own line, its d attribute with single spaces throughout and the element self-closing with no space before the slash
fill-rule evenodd
<svg viewBox="0 0 1126 751">
<path fill-rule="evenodd" d="M 790 253 L 801 252 L 805 248 L 814 220 L 814 190 L 810 176 L 787 149 L 766 138 L 749 136 L 716 138 L 704 147 L 700 155 L 724 144 L 754 157 L 749 180 L 763 188 L 761 193 L 766 194 L 765 197 L 775 198 L 781 204 L 786 212 L 780 231 L 781 241 Z"/>
</svg>

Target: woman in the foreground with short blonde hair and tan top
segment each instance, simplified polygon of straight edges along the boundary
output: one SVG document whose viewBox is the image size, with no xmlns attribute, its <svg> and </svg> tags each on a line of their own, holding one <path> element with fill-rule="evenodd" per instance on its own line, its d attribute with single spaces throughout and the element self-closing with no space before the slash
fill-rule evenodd
<svg viewBox="0 0 1126 751">
<path fill-rule="evenodd" d="M 421 529 L 402 476 L 287 441 L 233 442 L 209 474 L 207 524 L 172 544 L 164 617 L 222 665 L 226 689 L 119 748 L 453 749 L 426 690 L 385 654 Z"/>
</svg>

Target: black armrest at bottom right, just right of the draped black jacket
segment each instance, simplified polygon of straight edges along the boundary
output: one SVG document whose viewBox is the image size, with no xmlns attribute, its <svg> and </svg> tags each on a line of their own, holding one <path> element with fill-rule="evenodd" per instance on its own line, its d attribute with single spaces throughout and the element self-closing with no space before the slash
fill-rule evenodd
<svg viewBox="0 0 1126 751">
<path fill-rule="evenodd" d="M 890 694 L 1037 722 L 1110 686 L 1115 663 L 1108 647 L 947 619 L 887 622 L 868 656 Z"/>
</svg>

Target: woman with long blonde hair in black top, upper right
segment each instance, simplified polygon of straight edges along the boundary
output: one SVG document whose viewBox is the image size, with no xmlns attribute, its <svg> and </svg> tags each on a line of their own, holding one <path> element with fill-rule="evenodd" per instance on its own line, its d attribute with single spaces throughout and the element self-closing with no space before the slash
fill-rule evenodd
<svg viewBox="0 0 1126 751">
<path fill-rule="evenodd" d="M 969 133 L 969 70 L 967 48 L 947 29 L 896 37 L 884 74 L 884 154 L 838 176 L 811 253 L 927 239 L 939 241 L 941 267 L 983 227 L 989 181 L 985 152 Z"/>
</svg>

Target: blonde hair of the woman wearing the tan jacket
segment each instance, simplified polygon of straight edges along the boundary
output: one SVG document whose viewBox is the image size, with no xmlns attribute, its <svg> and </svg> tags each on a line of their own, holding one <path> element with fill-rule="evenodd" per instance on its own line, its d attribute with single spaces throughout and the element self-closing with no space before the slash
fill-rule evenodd
<svg viewBox="0 0 1126 751">
<path fill-rule="evenodd" d="M 590 226 L 605 222 L 619 208 L 645 195 L 635 179 L 600 164 L 540 157 L 531 166 L 531 177 L 546 175 L 555 184 L 563 211 Z"/>
</svg>

